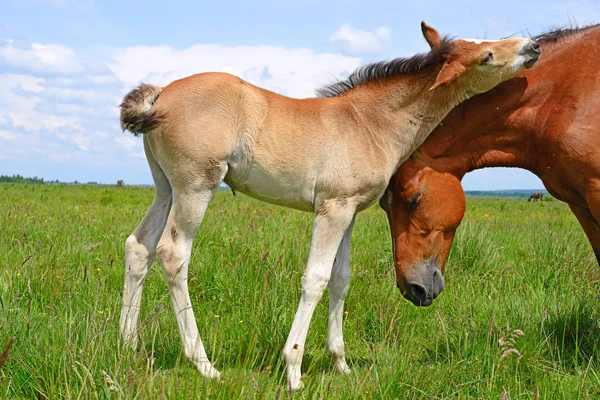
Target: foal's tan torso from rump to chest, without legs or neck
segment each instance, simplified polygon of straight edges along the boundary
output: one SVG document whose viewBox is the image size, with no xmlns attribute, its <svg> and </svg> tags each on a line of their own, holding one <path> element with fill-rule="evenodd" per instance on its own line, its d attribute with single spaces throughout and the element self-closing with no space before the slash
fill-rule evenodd
<svg viewBox="0 0 600 400">
<path fill-rule="evenodd" d="M 152 110 L 168 123 L 146 135 L 148 145 L 165 173 L 186 185 L 199 178 L 190 171 L 208 179 L 225 163 L 235 190 L 313 211 L 316 193 L 354 196 L 361 184 L 381 186 L 395 166 L 345 97 L 294 99 L 204 73 L 166 86 Z"/>
</svg>

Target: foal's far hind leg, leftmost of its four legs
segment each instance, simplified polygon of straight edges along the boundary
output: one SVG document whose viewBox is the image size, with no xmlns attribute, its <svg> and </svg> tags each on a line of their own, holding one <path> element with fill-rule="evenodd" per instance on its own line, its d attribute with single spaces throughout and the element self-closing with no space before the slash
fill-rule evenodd
<svg viewBox="0 0 600 400">
<path fill-rule="evenodd" d="M 138 319 L 144 278 L 154 261 L 156 245 L 165 229 L 171 207 L 171 185 L 157 164 L 144 139 L 144 150 L 154 178 L 156 192 L 150 209 L 125 242 L 125 284 L 121 308 L 121 336 L 132 347 L 137 345 Z"/>
</svg>

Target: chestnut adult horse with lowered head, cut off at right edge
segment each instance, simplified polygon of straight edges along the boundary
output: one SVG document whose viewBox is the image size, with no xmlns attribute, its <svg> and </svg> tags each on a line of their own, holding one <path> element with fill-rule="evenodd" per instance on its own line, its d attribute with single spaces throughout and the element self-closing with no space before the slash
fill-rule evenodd
<svg viewBox="0 0 600 400">
<path fill-rule="evenodd" d="M 422 271 L 444 270 L 465 212 L 460 181 L 518 167 L 568 203 L 600 260 L 600 25 L 534 38 L 543 59 L 459 105 L 398 169 L 380 205 L 390 222 L 396 282 L 415 305 L 438 294 Z"/>
</svg>

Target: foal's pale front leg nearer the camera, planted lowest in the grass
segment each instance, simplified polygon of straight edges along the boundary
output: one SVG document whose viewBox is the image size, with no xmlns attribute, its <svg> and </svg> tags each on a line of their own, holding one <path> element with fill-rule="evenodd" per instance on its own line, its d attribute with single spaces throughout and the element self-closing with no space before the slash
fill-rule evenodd
<svg viewBox="0 0 600 400">
<path fill-rule="evenodd" d="M 301 386 L 300 367 L 308 326 L 315 307 L 327 287 L 335 254 L 355 212 L 354 208 L 347 205 L 347 201 L 343 202 L 343 206 L 336 200 L 324 203 L 317 210 L 308 264 L 302 275 L 302 297 L 283 348 L 288 383 L 292 390 Z"/>
</svg>

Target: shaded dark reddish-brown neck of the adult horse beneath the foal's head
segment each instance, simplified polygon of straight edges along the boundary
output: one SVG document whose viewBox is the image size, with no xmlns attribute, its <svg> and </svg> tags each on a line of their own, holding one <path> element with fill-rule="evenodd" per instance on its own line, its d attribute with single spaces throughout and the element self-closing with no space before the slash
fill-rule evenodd
<svg viewBox="0 0 600 400">
<path fill-rule="evenodd" d="M 456 107 L 413 155 L 440 171 L 462 177 L 486 167 L 537 169 L 531 150 L 537 137 L 518 111 L 527 79 L 514 78 Z M 526 114 L 526 113 L 525 113 Z"/>
</svg>

